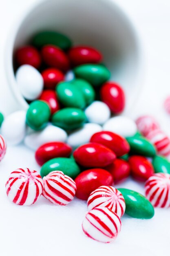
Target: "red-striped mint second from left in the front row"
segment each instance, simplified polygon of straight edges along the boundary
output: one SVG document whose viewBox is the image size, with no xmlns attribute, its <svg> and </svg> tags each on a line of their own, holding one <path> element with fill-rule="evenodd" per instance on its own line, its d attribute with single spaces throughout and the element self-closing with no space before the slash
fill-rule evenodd
<svg viewBox="0 0 170 256">
<path fill-rule="evenodd" d="M 62 171 L 52 171 L 43 177 L 44 190 L 42 195 L 53 204 L 66 205 L 75 196 L 76 184 L 71 177 Z"/>
</svg>

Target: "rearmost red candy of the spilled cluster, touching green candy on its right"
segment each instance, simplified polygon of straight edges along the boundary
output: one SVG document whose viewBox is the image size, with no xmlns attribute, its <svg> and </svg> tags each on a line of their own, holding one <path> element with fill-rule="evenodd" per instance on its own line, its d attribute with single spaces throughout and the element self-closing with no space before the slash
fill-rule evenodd
<svg viewBox="0 0 170 256">
<path fill-rule="evenodd" d="M 91 137 L 90 142 L 96 142 L 110 148 L 117 157 L 127 154 L 130 150 L 128 141 L 114 132 L 96 132 Z"/>
</svg>

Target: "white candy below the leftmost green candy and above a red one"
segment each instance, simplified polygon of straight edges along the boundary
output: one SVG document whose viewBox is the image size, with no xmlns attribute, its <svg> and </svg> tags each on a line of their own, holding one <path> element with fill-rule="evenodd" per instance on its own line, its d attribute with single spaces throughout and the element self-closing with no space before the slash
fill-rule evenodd
<svg viewBox="0 0 170 256">
<path fill-rule="evenodd" d="M 64 142 L 66 141 L 66 139 L 67 139 L 67 134 L 63 129 L 50 124 L 49 126 L 46 126 L 44 130 L 29 133 L 24 139 L 24 144 L 27 147 L 33 150 L 36 150 L 42 144 L 45 144 L 47 142 L 52 142 L 52 141 Z"/>
</svg>

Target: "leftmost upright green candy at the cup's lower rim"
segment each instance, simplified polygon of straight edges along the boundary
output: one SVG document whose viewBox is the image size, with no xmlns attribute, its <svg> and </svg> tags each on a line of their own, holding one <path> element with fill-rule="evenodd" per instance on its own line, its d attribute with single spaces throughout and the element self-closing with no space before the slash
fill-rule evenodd
<svg viewBox="0 0 170 256">
<path fill-rule="evenodd" d="M 26 124 L 33 130 L 43 129 L 49 119 L 51 111 L 44 101 L 33 101 L 26 112 Z"/>
</svg>

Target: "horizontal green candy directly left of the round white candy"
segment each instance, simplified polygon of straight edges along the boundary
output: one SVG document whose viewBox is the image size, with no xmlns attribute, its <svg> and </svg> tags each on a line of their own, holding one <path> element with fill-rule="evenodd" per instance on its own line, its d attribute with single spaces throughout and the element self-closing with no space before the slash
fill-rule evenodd
<svg viewBox="0 0 170 256">
<path fill-rule="evenodd" d="M 63 108 L 52 116 L 52 123 L 64 130 L 79 128 L 86 121 L 86 115 L 79 108 Z"/>
</svg>

